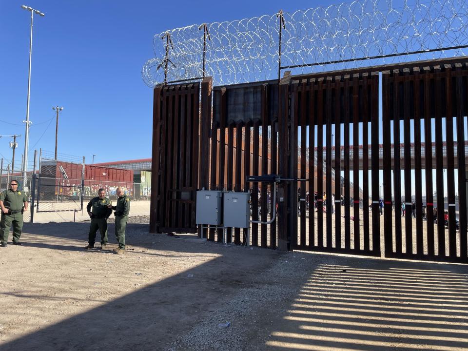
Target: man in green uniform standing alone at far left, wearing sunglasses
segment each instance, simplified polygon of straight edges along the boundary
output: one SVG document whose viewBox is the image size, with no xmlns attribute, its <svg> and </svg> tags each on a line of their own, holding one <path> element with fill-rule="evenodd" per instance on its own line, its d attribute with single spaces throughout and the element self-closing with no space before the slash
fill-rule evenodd
<svg viewBox="0 0 468 351">
<path fill-rule="evenodd" d="M 13 245 L 21 245 L 20 236 L 23 229 L 23 209 L 28 210 L 28 198 L 18 190 L 18 180 L 10 182 L 10 189 L 0 194 L 0 246 L 6 247 L 10 227 L 13 224 Z"/>
</svg>

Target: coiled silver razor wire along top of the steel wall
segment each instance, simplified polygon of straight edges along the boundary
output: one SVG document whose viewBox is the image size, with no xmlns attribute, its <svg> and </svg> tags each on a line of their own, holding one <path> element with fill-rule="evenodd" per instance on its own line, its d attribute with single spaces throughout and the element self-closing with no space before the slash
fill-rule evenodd
<svg viewBox="0 0 468 351">
<path fill-rule="evenodd" d="M 467 23 L 468 0 L 364 0 L 194 24 L 155 35 L 155 58 L 142 77 L 150 87 L 205 76 L 224 85 L 276 79 L 281 69 L 304 74 L 465 56 Z"/>
</svg>

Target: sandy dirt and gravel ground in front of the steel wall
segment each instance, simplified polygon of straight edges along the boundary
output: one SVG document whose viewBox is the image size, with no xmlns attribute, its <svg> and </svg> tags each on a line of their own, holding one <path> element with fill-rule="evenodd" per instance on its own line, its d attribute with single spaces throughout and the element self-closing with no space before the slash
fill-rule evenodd
<svg viewBox="0 0 468 351">
<path fill-rule="evenodd" d="M 0 248 L 0 350 L 468 350 L 466 265 L 25 224 Z M 143 223 L 143 224 L 142 224 Z M 230 322 L 230 326 L 218 326 Z"/>
</svg>

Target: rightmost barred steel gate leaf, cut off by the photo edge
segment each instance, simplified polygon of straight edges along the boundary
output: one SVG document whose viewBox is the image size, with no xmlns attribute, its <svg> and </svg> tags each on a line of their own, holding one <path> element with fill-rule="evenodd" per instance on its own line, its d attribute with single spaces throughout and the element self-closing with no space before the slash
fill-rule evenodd
<svg viewBox="0 0 468 351">
<path fill-rule="evenodd" d="M 383 167 L 386 257 L 468 262 L 467 78 L 466 60 L 383 72 L 383 128 L 393 128 L 393 145 L 390 133 L 384 134 L 384 159 L 401 154 Z M 412 195 L 415 203 L 423 203 L 425 190 L 425 223 L 421 206 L 416 206 L 415 223 L 410 215 L 404 223 L 400 215 L 392 221 L 392 187 L 393 198 L 402 198 L 404 190 L 402 201 L 394 203 L 395 214 L 402 204 L 411 206 Z"/>
</svg>

